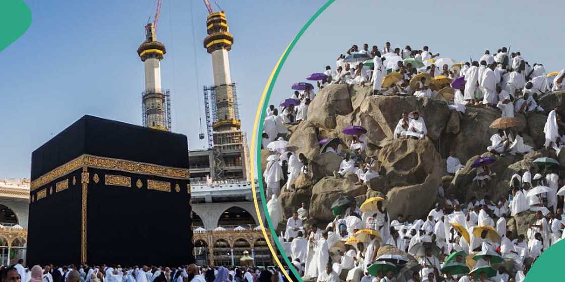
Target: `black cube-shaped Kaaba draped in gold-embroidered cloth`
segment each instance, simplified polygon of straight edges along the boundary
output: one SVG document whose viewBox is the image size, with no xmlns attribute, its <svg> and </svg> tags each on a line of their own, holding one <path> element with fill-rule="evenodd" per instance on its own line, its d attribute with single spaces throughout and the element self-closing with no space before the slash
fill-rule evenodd
<svg viewBox="0 0 565 282">
<path fill-rule="evenodd" d="M 186 136 L 84 116 L 33 151 L 27 265 L 194 262 Z"/>
</svg>

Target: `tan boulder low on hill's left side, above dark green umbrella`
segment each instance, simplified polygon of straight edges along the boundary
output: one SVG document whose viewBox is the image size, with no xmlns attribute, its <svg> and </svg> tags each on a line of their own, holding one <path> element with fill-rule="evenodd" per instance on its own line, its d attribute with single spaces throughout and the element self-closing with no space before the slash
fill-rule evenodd
<svg viewBox="0 0 565 282">
<path fill-rule="evenodd" d="M 341 196 L 357 197 L 367 192 L 367 187 L 355 185 L 356 181 L 357 177 L 354 174 L 342 178 L 322 178 L 312 187 L 310 209 L 308 209 L 310 216 L 318 222 L 332 221 L 334 216 L 331 208 L 335 200 Z"/>
</svg>

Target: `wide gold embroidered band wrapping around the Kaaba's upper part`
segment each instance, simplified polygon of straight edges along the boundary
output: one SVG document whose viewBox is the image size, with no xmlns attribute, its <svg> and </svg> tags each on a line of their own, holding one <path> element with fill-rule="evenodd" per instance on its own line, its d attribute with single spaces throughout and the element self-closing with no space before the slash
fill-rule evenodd
<svg viewBox="0 0 565 282">
<path fill-rule="evenodd" d="M 189 178 L 188 169 L 171 168 L 169 166 L 147 164 L 145 162 L 135 162 L 128 160 L 121 160 L 119 158 L 97 157 L 92 155 L 81 155 L 67 164 L 61 165 L 58 168 L 49 171 L 41 177 L 32 181 L 30 190 L 34 191 L 41 188 L 45 184 L 63 177 L 72 171 L 80 169 L 84 166 L 96 169 L 107 169 L 115 171 L 123 171 L 127 173 L 153 175 L 156 177 L 186 179 Z"/>
</svg>

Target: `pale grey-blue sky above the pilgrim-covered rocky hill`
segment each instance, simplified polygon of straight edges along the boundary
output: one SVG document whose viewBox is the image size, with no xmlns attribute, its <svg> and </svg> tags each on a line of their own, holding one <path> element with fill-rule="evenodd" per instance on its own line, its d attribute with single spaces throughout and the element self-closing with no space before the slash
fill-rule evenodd
<svg viewBox="0 0 565 282">
<path fill-rule="evenodd" d="M 355 6 L 352 5 L 355 3 Z M 289 98 L 292 83 L 306 81 L 353 44 L 402 49 L 429 46 L 434 54 L 455 60 L 478 60 L 511 44 L 529 62 L 547 72 L 565 68 L 560 54 L 565 43 L 565 1 L 340 1 L 312 23 L 290 53 L 276 81 L 270 104 Z M 358 15 L 356 15 L 358 14 Z M 347 19 L 343 19 L 347 15 Z M 313 83 L 314 84 L 314 83 Z M 315 84 L 314 84 L 315 85 Z"/>
</svg>

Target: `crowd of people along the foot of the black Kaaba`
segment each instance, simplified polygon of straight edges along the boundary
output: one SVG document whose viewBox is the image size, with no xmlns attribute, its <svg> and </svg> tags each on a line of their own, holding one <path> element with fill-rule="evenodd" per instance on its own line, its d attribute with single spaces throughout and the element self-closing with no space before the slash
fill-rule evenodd
<svg viewBox="0 0 565 282">
<path fill-rule="evenodd" d="M 0 268 L 2 282 L 288 282 L 277 268 L 212 267 L 187 265 L 181 267 L 157 266 L 88 266 L 53 265 L 23 266 L 18 264 Z"/>
</svg>

